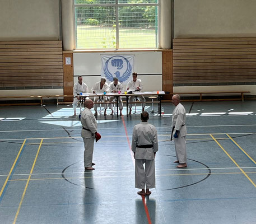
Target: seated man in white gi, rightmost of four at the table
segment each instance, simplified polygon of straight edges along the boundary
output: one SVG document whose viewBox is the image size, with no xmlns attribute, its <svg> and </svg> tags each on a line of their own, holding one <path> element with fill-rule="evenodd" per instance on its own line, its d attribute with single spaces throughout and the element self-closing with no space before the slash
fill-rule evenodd
<svg viewBox="0 0 256 224">
<path fill-rule="evenodd" d="M 142 85 L 141 80 L 139 80 L 139 79 L 137 78 L 137 76 L 138 76 L 137 72 L 133 72 L 133 73 L 132 73 L 132 80 L 127 83 L 127 87 L 126 87 L 126 90 L 127 90 L 127 91 L 142 91 L 143 85 Z M 136 92 L 134 92 L 134 93 L 136 93 Z M 133 105 L 131 104 L 131 102 L 135 100 L 135 96 L 136 96 L 136 95 L 134 95 L 134 96 L 129 96 L 129 100 L 128 100 L 128 102 L 129 102 L 129 108 L 130 108 L 129 115 L 132 114 L 132 106 L 133 106 Z M 138 98 L 138 100 L 141 101 L 141 102 L 145 102 L 145 101 L 146 101 L 145 98 L 144 98 L 144 96 L 139 96 L 139 95 L 138 95 L 137 98 Z M 141 105 L 142 105 L 142 111 L 144 111 L 145 104 L 141 104 Z"/>
</svg>

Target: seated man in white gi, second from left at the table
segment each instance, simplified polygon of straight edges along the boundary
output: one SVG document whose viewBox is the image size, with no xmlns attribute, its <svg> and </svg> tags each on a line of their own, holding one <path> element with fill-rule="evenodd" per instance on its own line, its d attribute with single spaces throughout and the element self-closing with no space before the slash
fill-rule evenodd
<svg viewBox="0 0 256 224">
<path fill-rule="evenodd" d="M 94 86 L 91 89 L 92 93 L 98 94 L 101 93 L 103 94 L 104 92 L 109 92 L 109 85 L 106 83 L 106 78 L 101 77 L 99 82 L 96 82 Z M 108 102 L 108 98 L 106 96 L 96 96 L 94 97 L 94 102 Z M 95 110 L 95 116 L 97 115 L 97 105 L 94 104 L 94 110 Z M 108 108 L 108 104 L 104 104 L 104 116 L 106 116 L 106 109 Z"/>
</svg>

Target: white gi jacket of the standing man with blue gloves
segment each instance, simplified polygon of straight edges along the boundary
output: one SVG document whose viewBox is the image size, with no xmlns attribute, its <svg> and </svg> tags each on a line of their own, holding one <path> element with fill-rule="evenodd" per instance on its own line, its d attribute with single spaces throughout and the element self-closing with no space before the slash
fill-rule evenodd
<svg viewBox="0 0 256 224">
<path fill-rule="evenodd" d="M 174 132 L 175 130 L 179 130 L 179 134 L 181 137 L 187 136 L 187 127 L 185 123 L 186 123 L 186 110 L 184 106 L 181 103 L 179 103 L 173 110 L 172 124 L 174 127 Z"/>
</svg>

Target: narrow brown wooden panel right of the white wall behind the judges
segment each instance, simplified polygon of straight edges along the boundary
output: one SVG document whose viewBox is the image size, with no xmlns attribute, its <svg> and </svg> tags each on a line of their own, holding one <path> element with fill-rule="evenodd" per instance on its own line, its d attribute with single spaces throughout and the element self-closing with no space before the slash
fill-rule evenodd
<svg viewBox="0 0 256 224">
<path fill-rule="evenodd" d="M 162 91 L 173 92 L 173 50 L 162 52 Z"/>
</svg>

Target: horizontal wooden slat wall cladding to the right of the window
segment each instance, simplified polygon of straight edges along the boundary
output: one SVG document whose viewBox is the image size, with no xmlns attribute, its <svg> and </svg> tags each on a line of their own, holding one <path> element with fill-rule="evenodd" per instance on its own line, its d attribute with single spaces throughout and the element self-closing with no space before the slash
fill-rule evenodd
<svg viewBox="0 0 256 224">
<path fill-rule="evenodd" d="M 173 40 L 173 83 L 256 82 L 256 38 Z"/>
</svg>

